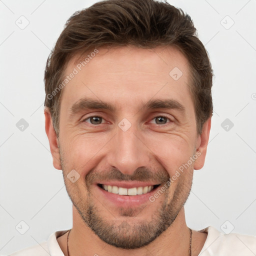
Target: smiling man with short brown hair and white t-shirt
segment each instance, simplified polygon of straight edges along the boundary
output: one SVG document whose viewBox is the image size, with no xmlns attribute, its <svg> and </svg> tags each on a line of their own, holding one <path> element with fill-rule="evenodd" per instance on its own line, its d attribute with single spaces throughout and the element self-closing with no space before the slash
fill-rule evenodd
<svg viewBox="0 0 256 256">
<path fill-rule="evenodd" d="M 195 33 L 182 10 L 153 0 L 105 0 L 69 18 L 46 63 L 44 114 L 73 226 L 12 255 L 255 255 L 254 236 L 185 222 L 212 115 Z"/>
</svg>

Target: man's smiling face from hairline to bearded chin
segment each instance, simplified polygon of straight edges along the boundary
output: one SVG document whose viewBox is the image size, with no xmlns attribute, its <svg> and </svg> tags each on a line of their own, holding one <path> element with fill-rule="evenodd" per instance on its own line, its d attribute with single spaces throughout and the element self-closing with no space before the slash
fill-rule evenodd
<svg viewBox="0 0 256 256">
<path fill-rule="evenodd" d="M 67 192 L 103 241 L 142 247 L 183 207 L 199 157 L 188 61 L 174 47 L 130 46 L 99 48 L 81 70 L 73 58 L 65 75 L 74 68 L 55 157 Z"/>
</svg>

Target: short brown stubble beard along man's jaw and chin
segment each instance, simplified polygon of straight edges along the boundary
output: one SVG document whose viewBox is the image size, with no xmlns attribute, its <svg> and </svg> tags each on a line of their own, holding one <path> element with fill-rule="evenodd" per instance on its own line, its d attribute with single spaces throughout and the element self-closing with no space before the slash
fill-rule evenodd
<svg viewBox="0 0 256 256">
<path fill-rule="evenodd" d="M 140 248 L 155 240 L 171 226 L 185 204 L 191 190 L 191 177 L 184 178 L 184 175 L 181 174 L 178 177 L 179 182 L 177 183 L 172 199 L 170 200 L 168 198 L 169 189 L 172 187 L 170 184 L 164 193 L 161 194 L 164 197 L 161 206 L 156 208 L 150 219 L 138 220 L 136 219 L 137 210 L 120 208 L 118 217 L 126 216 L 126 220 L 116 221 L 115 217 L 110 213 L 113 219 L 107 220 L 100 214 L 100 211 L 107 211 L 107 209 L 99 204 L 102 207 L 100 210 L 95 205 L 95 197 L 90 193 L 90 188 L 86 186 L 86 182 L 84 181 L 84 186 L 87 187 L 87 196 L 85 197 L 81 190 L 77 186 L 74 186 L 74 183 L 70 184 L 70 181 L 67 180 L 64 173 L 68 172 L 65 169 L 65 164 L 61 157 L 60 161 L 68 196 L 81 216 L 81 219 L 102 241 L 118 248 Z M 158 188 L 160 189 L 161 186 Z M 83 199 L 81 200 L 80 198 Z M 155 202 L 157 200 L 160 200 L 160 198 L 156 199 Z M 149 205 L 144 206 L 139 213 L 146 210 L 147 207 L 151 208 L 153 203 L 148 202 L 147 204 Z"/>
</svg>

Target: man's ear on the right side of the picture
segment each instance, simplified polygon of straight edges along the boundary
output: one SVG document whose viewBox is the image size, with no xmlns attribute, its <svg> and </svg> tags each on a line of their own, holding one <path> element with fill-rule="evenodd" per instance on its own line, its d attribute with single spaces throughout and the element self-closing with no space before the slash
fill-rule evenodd
<svg viewBox="0 0 256 256">
<path fill-rule="evenodd" d="M 210 125 L 211 125 L 211 116 L 203 124 L 202 132 L 200 135 L 198 135 L 198 138 L 197 138 L 196 154 L 198 155 L 198 157 L 194 161 L 194 169 L 195 170 L 201 169 L 204 165 L 207 145 L 208 145 L 208 141 L 209 141 Z"/>
</svg>

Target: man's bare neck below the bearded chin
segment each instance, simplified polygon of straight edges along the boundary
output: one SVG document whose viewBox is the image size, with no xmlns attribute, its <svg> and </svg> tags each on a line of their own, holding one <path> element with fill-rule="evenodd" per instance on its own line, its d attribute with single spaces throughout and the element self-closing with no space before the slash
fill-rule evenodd
<svg viewBox="0 0 256 256">
<path fill-rule="evenodd" d="M 141 248 L 132 249 L 132 255 L 189 255 L 190 230 L 186 226 L 184 207 L 162 234 Z M 193 244 L 193 238 L 192 238 Z M 69 255 L 117 255 L 128 256 L 131 250 L 116 248 L 102 241 L 80 218 L 73 206 L 73 227 L 68 239 Z M 192 250 L 193 251 L 193 250 Z"/>
</svg>

